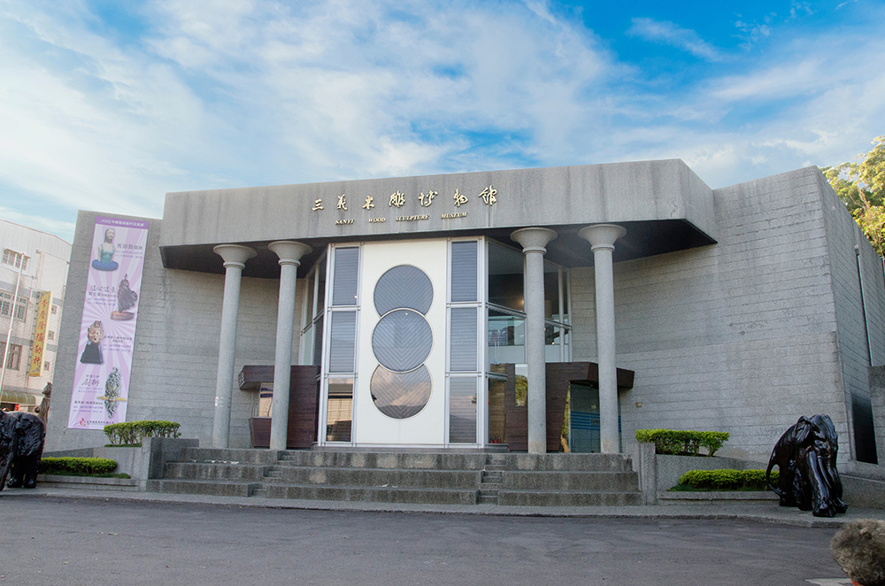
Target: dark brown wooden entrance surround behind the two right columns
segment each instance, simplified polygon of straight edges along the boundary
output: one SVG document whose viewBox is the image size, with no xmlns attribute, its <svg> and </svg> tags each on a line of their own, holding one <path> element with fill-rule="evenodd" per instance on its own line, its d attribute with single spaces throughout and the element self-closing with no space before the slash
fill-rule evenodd
<svg viewBox="0 0 885 586">
<path fill-rule="evenodd" d="M 528 408 L 516 405 L 516 366 L 504 365 L 507 387 L 504 391 L 507 413 L 507 449 L 528 450 Z M 588 382 L 598 389 L 599 365 L 595 362 L 549 362 L 547 376 L 547 451 L 559 451 L 562 437 L 562 421 L 566 416 L 568 384 L 572 381 Z M 633 388 L 634 372 L 618 369 L 618 389 Z"/>
</svg>

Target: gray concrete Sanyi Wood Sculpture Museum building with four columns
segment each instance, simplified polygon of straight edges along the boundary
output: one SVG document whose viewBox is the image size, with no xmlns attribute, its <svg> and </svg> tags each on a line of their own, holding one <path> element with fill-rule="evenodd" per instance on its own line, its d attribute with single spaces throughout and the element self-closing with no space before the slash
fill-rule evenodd
<svg viewBox="0 0 885 586">
<path fill-rule="evenodd" d="M 841 460 L 885 457 L 882 262 L 814 167 L 170 193 L 162 220 L 80 212 L 66 290 L 50 450 L 125 410 L 202 446 L 618 452 L 675 428 L 765 460 L 827 413 Z"/>
</svg>

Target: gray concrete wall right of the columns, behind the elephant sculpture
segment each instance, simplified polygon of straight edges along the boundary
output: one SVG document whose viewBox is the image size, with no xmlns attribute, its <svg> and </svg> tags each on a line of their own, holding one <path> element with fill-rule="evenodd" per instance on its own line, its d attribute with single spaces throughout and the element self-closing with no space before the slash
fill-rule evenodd
<svg viewBox="0 0 885 586">
<path fill-rule="evenodd" d="M 618 366 L 636 373 L 621 395 L 625 451 L 640 428 L 717 430 L 731 434 L 717 455 L 767 461 L 799 416 L 829 413 L 846 459 L 820 172 L 713 196 L 718 244 L 614 266 Z M 573 269 L 572 282 L 573 359 L 594 360 L 592 268 Z"/>
</svg>

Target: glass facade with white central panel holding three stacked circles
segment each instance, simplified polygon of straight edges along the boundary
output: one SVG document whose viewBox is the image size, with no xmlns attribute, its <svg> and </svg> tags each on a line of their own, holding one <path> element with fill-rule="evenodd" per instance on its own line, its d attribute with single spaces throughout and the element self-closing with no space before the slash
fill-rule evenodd
<svg viewBox="0 0 885 586">
<path fill-rule="evenodd" d="M 445 262 L 423 258 L 422 246 Z M 415 262 L 390 262 L 401 257 Z M 301 347 L 303 364 L 322 365 L 320 442 L 505 443 L 506 365 L 514 406 L 529 392 L 524 274 L 521 251 L 485 238 L 330 246 L 305 278 Z M 570 359 L 568 274 L 552 263 L 544 320 L 547 361 Z M 432 436 L 436 418 L 442 436 Z M 403 433 L 420 437 L 427 421 L 426 441 L 366 431 L 410 420 L 419 428 Z"/>
</svg>

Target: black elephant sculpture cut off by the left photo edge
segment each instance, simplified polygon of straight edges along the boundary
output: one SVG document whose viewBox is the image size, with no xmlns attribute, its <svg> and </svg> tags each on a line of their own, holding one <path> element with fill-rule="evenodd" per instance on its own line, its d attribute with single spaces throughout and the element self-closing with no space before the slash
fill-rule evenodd
<svg viewBox="0 0 885 586">
<path fill-rule="evenodd" d="M 45 439 L 46 428 L 36 415 L 0 411 L 0 490 L 35 488 Z"/>
</svg>

